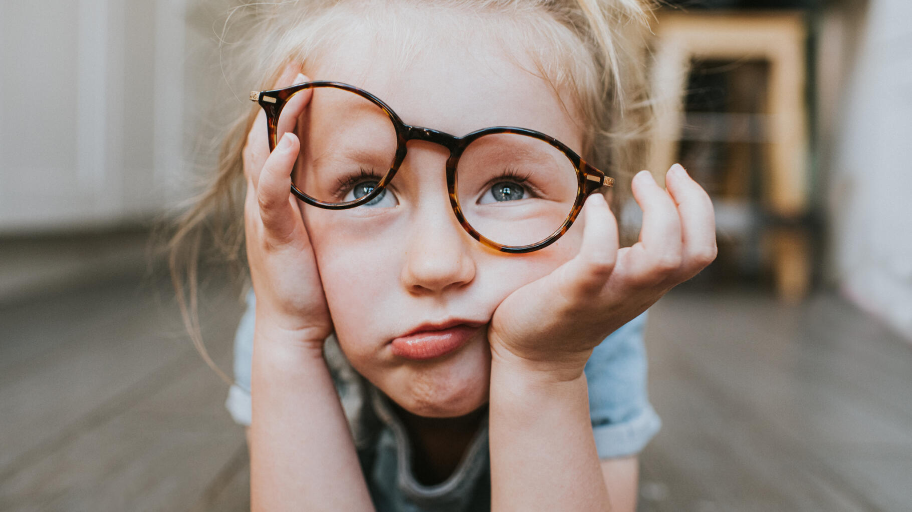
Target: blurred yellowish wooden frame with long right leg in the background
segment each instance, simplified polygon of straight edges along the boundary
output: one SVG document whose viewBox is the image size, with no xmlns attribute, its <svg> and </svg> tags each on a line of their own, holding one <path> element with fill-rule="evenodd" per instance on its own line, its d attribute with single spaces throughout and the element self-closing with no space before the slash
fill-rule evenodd
<svg viewBox="0 0 912 512">
<path fill-rule="evenodd" d="M 804 106 L 805 38 L 801 13 L 662 14 L 654 53 L 652 93 L 657 119 L 649 160 L 658 182 L 663 183 L 665 170 L 676 159 L 690 59 L 765 60 L 770 63 L 770 145 L 764 203 L 782 220 L 801 219 L 807 213 L 811 182 Z M 780 297 L 801 298 L 811 282 L 810 241 L 800 228 L 773 229 L 767 240 Z"/>
</svg>

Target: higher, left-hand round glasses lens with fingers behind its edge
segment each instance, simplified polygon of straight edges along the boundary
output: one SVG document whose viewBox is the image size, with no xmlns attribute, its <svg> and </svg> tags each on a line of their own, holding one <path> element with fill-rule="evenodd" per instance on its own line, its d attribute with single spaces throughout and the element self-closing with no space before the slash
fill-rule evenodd
<svg viewBox="0 0 912 512">
<path fill-rule="evenodd" d="M 285 103 L 277 128 L 277 140 L 294 131 L 301 141 L 292 179 L 315 200 L 343 203 L 364 197 L 396 158 L 396 128 L 387 113 L 368 98 L 338 87 L 295 93 Z M 386 195 L 380 192 L 367 205 L 382 206 Z"/>
</svg>

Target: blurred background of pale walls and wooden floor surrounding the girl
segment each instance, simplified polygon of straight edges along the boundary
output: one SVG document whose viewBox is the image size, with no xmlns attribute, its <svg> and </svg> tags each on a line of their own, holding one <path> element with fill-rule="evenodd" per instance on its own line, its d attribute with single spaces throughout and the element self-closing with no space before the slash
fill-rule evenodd
<svg viewBox="0 0 912 512">
<path fill-rule="evenodd" d="M 151 236 L 246 107 L 219 66 L 230 5 L 0 3 L 0 510 L 248 507 L 243 429 Z M 649 169 L 710 191 L 720 254 L 649 319 L 664 427 L 641 511 L 912 510 L 909 19 L 908 0 L 658 13 Z M 203 261 L 225 369 L 242 288 Z"/>
</svg>

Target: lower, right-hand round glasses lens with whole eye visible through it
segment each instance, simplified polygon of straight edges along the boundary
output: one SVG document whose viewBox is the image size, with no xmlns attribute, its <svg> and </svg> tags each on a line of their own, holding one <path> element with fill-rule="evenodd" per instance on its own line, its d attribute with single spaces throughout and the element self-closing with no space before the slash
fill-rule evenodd
<svg viewBox="0 0 912 512">
<path fill-rule="evenodd" d="M 484 238 L 520 247 L 546 240 L 573 210 L 574 164 L 544 140 L 485 135 L 465 148 L 456 193 L 465 220 Z"/>
</svg>

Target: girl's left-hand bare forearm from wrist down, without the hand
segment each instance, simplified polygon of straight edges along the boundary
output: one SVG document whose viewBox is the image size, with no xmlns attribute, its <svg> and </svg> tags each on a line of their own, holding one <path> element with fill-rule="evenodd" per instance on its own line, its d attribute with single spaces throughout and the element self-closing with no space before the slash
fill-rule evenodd
<svg viewBox="0 0 912 512">
<path fill-rule="evenodd" d="M 373 510 L 322 353 L 288 335 L 254 335 L 251 509 Z"/>
</svg>

